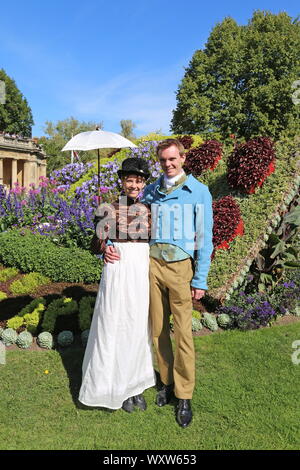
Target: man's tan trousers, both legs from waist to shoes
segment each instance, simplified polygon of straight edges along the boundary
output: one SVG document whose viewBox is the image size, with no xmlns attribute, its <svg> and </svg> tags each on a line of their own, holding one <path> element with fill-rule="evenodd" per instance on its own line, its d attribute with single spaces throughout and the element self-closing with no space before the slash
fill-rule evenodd
<svg viewBox="0 0 300 470">
<path fill-rule="evenodd" d="M 161 380 L 175 383 L 177 398 L 191 399 L 195 386 L 195 351 L 192 335 L 193 277 L 191 260 L 166 263 L 150 258 L 150 316 Z M 170 339 L 173 314 L 175 358 Z"/>
</svg>

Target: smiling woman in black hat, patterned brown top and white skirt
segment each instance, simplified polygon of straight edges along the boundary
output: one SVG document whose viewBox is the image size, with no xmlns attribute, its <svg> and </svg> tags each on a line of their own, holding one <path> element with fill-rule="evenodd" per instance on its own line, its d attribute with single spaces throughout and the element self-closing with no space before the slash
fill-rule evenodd
<svg viewBox="0 0 300 470">
<path fill-rule="evenodd" d="M 85 405 L 146 409 L 143 391 L 155 385 L 149 331 L 150 210 L 138 202 L 147 163 L 128 158 L 118 171 L 119 201 L 96 212 L 102 251 L 113 243 L 120 259 L 104 265 L 82 364 L 79 400 Z"/>
</svg>

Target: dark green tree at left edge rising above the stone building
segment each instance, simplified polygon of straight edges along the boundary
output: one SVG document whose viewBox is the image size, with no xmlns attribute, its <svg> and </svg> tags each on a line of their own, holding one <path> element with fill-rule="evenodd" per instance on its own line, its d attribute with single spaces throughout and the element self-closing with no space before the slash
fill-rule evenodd
<svg viewBox="0 0 300 470">
<path fill-rule="evenodd" d="M 31 137 L 34 122 L 26 98 L 3 69 L 0 70 L 0 80 L 5 84 L 5 102 L 0 104 L 0 131 Z"/>
</svg>

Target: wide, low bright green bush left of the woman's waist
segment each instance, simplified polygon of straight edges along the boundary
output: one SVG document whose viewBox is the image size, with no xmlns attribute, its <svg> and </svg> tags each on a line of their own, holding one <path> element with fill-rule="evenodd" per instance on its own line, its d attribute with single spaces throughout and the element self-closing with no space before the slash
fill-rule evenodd
<svg viewBox="0 0 300 470">
<path fill-rule="evenodd" d="M 54 282 L 98 282 L 101 262 L 80 248 L 56 246 L 45 236 L 11 230 L 0 234 L 0 260 L 22 272 L 38 272 Z"/>
</svg>

